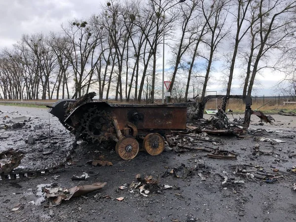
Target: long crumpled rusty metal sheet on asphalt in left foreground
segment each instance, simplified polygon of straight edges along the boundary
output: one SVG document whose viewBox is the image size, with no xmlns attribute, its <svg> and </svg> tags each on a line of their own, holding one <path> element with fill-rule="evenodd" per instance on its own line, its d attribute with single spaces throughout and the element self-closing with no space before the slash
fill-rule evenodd
<svg viewBox="0 0 296 222">
<path fill-rule="evenodd" d="M 57 206 L 61 204 L 62 200 L 70 200 L 73 197 L 85 195 L 87 193 L 103 188 L 106 184 L 106 182 L 97 182 L 92 185 L 74 186 L 70 189 L 64 189 L 60 187 L 44 188 L 43 191 L 46 194 L 46 198 L 53 199 L 52 205 Z"/>
</svg>

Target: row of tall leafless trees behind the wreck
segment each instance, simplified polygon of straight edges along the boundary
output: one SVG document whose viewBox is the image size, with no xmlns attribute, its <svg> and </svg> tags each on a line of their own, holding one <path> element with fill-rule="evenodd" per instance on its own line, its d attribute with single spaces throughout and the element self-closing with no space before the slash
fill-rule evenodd
<svg viewBox="0 0 296 222">
<path fill-rule="evenodd" d="M 100 99 L 153 102 L 161 97 L 163 38 L 178 102 L 202 99 L 217 72 L 227 95 L 237 75 L 241 94 L 251 96 L 266 69 L 283 75 L 279 89 L 296 94 L 294 0 L 110 0 L 98 11 L 1 49 L 0 99 L 94 90 Z"/>
</svg>

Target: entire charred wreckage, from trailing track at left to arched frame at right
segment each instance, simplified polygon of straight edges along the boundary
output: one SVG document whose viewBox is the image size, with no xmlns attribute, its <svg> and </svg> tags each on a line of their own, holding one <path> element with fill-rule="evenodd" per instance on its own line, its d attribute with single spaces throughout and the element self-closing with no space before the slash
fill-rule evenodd
<svg viewBox="0 0 296 222">
<path fill-rule="evenodd" d="M 247 132 L 251 115 L 257 115 L 261 121 L 271 123 L 271 116 L 265 116 L 261 111 L 252 111 L 252 99 L 240 95 L 210 95 L 201 102 L 188 102 L 161 105 L 108 104 L 93 100 L 95 92 L 88 93 L 78 99 L 63 99 L 57 101 L 49 112 L 71 133 L 75 142 L 67 156 L 61 162 L 50 166 L 35 168 L 16 168 L 23 158 L 19 151 L 7 150 L 0 153 L 1 178 L 15 179 L 16 175 L 41 175 L 61 167 L 71 157 L 76 142 L 82 139 L 87 143 L 100 144 L 103 141 L 115 141 L 116 153 L 125 160 L 137 156 L 140 148 L 150 155 L 158 155 L 169 146 L 176 146 L 169 141 L 167 135 L 173 132 L 195 132 L 208 134 L 230 134 L 241 137 Z M 210 99 L 222 99 L 218 112 L 210 119 L 203 119 L 205 105 Z M 245 104 L 243 118 L 230 121 L 225 113 L 229 99 L 242 99 Z M 188 125 L 186 125 L 188 124 Z"/>
</svg>

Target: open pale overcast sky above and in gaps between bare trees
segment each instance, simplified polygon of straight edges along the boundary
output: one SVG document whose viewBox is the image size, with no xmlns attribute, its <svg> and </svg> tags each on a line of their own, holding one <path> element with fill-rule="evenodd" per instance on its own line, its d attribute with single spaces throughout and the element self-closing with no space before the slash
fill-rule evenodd
<svg viewBox="0 0 296 222">
<path fill-rule="evenodd" d="M 50 31 L 60 32 L 61 23 L 87 18 L 100 10 L 100 4 L 105 0 L 0 0 L 0 49 L 11 47 L 21 39 L 23 34 L 40 33 L 48 34 Z M 167 53 L 165 53 L 167 54 Z M 166 58 L 167 61 L 168 58 Z M 157 60 L 162 63 L 161 58 Z M 167 64 L 166 64 L 167 66 Z M 218 73 L 215 80 L 219 79 Z M 280 79 L 280 76 L 268 73 L 259 79 L 265 81 L 264 88 L 257 95 L 274 95 L 272 86 Z M 169 80 L 169 79 L 165 79 Z M 221 93 L 221 85 L 211 84 L 208 90 L 217 90 Z M 234 79 L 232 94 L 241 94 L 238 89 L 239 81 Z M 237 87 L 237 89 L 235 89 Z"/>
</svg>

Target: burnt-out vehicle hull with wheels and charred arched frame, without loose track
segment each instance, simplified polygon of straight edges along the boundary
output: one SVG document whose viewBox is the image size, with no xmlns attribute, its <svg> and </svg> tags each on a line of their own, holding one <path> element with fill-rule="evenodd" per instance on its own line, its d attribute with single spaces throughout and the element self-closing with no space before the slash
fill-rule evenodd
<svg viewBox="0 0 296 222">
<path fill-rule="evenodd" d="M 245 116 L 229 123 L 225 112 L 219 108 L 212 119 L 211 129 L 199 129 L 199 132 L 236 134 L 247 129 L 250 124 L 252 100 L 248 96 L 207 96 L 200 103 L 177 103 L 162 105 L 108 104 L 94 101 L 96 93 L 88 93 L 76 100 L 57 101 L 49 112 L 58 117 L 60 122 L 77 138 L 88 143 L 101 143 L 113 140 L 115 151 L 122 159 L 134 158 L 142 148 L 150 155 L 160 154 L 165 146 L 166 135 L 171 130 L 186 130 L 186 121 L 198 121 L 203 118 L 205 104 L 209 99 L 239 98 L 246 103 Z M 259 117 L 266 116 L 257 113 Z M 266 117 L 267 118 L 267 117 Z M 270 121 L 269 121 L 270 122 Z M 230 126 L 236 126 L 231 130 Z M 192 128 L 191 128 L 192 130 Z M 169 141 L 168 141 L 169 143 Z M 170 143 L 169 143 L 170 144 Z"/>
</svg>

